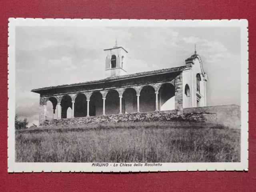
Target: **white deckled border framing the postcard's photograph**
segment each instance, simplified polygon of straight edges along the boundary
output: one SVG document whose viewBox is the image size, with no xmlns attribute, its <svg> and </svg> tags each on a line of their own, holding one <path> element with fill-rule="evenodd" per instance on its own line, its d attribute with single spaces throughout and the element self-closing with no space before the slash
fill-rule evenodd
<svg viewBox="0 0 256 192">
<path fill-rule="evenodd" d="M 247 20 L 108 20 L 10 18 L 8 28 L 8 172 L 158 172 L 248 170 L 248 21 Z M 241 29 L 241 162 L 155 163 L 162 166 L 93 166 L 95 163 L 15 162 L 15 27 L 16 26 L 154 26 L 240 27 Z M 153 163 L 148 163 L 153 164 Z M 117 166 L 115 166 L 117 165 Z"/>
</svg>

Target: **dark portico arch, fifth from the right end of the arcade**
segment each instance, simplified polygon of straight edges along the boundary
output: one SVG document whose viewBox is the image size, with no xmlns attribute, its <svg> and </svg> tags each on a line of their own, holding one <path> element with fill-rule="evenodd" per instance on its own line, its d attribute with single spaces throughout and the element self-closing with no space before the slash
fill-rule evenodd
<svg viewBox="0 0 256 192">
<path fill-rule="evenodd" d="M 103 99 L 100 92 L 93 92 L 90 96 L 89 115 L 100 116 L 103 114 Z"/>
</svg>

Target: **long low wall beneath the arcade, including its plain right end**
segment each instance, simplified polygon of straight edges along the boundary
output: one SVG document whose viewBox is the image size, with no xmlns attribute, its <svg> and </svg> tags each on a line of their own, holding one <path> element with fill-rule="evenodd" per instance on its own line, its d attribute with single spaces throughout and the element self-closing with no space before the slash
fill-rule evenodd
<svg viewBox="0 0 256 192">
<path fill-rule="evenodd" d="M 177 110 L 116 114 L 80 118 L 67 118 L 60 120 L 44 121 L 43 126 L 49 125 L 72 125 L 88 123 L 110 123 L 110 122 L 152 122 L 152 121 L 190 121 L 207 122 L 212 126 L 240 129 L 240 106 L 223 105 L 198 108 L 184 108 L 183 114 Z"/>
</svg>

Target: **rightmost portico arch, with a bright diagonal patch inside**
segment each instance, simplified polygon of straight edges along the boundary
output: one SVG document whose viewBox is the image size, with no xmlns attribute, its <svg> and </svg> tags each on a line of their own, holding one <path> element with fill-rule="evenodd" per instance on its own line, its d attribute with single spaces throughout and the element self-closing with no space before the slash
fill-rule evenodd
<svg viewBox="0 0 256 192">
<path fill-rule="evenodd" d="M 164 83 L 158 90 L 158 106 L 160 111 L 175 109 L 175 87 L 173 84 Z"/>
</svg>

